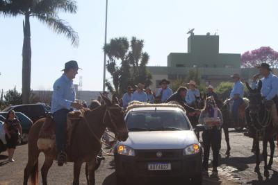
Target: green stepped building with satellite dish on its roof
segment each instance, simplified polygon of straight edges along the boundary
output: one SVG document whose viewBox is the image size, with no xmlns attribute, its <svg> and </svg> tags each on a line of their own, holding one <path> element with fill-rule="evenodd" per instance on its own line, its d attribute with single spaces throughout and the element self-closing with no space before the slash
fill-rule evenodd
<svg viewBox="0 0 278 185">
<path fill-rule="evenodd" d="M 220 82 L 230 81 L 233 73 L 239 73 L 243 80 L 249 79 L 256 69 L 241 69 L 239 53 L 219 53 L 219 36 L 191 35 L 188 37 L 187 53 L 170 53 L 167 67 L 147 67 L 153 76 L 152 89 L 166 78 L 170 81 L 186 79 L 189 71 L 198 71 L 202 82 L 217 86 Z"/>
</svg>

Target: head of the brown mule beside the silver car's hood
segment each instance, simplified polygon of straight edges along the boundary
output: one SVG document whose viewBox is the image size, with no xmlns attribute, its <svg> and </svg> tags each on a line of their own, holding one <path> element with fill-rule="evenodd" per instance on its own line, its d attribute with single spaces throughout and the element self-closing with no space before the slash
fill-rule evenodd
<svg viewBox="0 0 278 185">
<path fill-rule="evenodd" d="M 129 130 L 126 127 L 124 111 L 120 107 L 117 97 L 114 94 L 112 101 L 102 95 L 101 98 L 104 100 L 106 106 L 104 124 L 115 134 L 119 141 L 126 141 L 129 137 Z"/>
</svg>

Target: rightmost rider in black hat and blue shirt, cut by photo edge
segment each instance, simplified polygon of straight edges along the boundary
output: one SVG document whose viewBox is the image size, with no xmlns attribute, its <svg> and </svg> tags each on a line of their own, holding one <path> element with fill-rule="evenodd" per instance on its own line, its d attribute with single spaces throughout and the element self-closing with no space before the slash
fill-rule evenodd
<svg viewBox="0 0 278 185">
<path fill-rule="evenodd" d="M 261 78 L 262 87 L 261 87 L 261 95 L 265 100 L 265 104 L 270 106 L 270 111 L 272 114 L 272 123 L 273 125 L 278 125 L 278 77 L 275 76 L 270 69 L 270 65 L 266 63 L 262 63 L 261 66 L 258 67 L 260 73 L 253 76 L 252 89 L 256 89 L 259 76 L 263 76 Z M 273 104 L 275 103 L 275 104 Z M 272 106 L 273 104 L 273 106 Z M 276 106 L 275 106 L 276 105 Z"/>
</svg>

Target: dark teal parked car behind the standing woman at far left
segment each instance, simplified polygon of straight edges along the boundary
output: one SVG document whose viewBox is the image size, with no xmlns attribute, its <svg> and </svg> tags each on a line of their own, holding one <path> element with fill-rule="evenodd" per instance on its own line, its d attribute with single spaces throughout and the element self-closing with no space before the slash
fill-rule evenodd
<svg viewBox="0 0 278 185">
<path fill-rule="evenodd" d="M 6 116 L 8 112 L 0 112 L 0 121 L 5 121 Z M 22 125 L 22 143 L 27 143 L 28 142 L 28 133 L 33 125 L 33 122 L 31 121 L 30 118 L 28 118 L 25 114 L 22 114 L 21 112 L 15 112 L 15 116 L 19 119 L 21 125 Z"/>
</svg>

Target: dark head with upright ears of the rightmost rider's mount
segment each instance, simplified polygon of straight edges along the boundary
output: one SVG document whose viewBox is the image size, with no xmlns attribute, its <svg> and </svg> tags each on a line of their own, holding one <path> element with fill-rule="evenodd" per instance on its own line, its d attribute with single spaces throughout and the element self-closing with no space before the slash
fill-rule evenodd
<svg viewBox="0 0 278 185">
<path fill-rule="evenodd" d="M 246 87 L 249 90 L 248 99 L 250 100 L 249 109 L 250 116 L 259 114 L 261 112 L 262 105 L 262 96 L 261 96 L 261 87 L 262 82 L 259 81 L 258 87 L 256 89 L 252 89 L 250 85 L 246 82 Z"/>
</svg>

